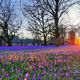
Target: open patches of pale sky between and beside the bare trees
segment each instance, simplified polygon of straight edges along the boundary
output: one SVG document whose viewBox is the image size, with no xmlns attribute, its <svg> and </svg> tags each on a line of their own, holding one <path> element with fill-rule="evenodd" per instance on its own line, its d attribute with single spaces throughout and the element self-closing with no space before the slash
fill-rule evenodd
<svg viewBox="0 0 80 80">
<path fill-rule="evenodd" d="M 18 3 L 20 0 L 17 0 Z M 23 3 L 25 1 L 28 3 L 28 0 L 22 0 Z M 29 0 L 30 1 L 30 0 Z M 18 6 L 20 4 L 17 4 Z M 20 12 L 20 16 L 23 19 L 22 28 L 18 31 L 18 34 L 20 34 L 20 38 L 32 38 L 32 35 L 29 31 L 27 31 L 27 18 L 24 18 L 24 16 Z M 80 23 L 80 6 L 75 5 L 69 9 L 68 15 L 64 16 L 65 20 L 63 21 L 64 24 L 70 24 L 70 25 L 76 25 Z"/>
</svg>

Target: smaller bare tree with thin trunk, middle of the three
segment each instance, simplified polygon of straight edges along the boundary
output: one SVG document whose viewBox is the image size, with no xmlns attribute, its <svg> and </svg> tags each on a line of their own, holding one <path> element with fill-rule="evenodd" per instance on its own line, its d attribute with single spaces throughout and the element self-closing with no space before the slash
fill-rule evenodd
<svg viewBox="0 0 80 80">
<path fill-rule="evenodd" d="M 30 16 L 28 30 L 34 35 L 42 36 L 44 45 L 47 45 L 47 36 L 50 32 L 49 17 L 41 5 L 26 5 L 24 7 L 24 14 L 28 13 Z M 26 14 L 27 15 L 27 14 Z"/>
</svg>

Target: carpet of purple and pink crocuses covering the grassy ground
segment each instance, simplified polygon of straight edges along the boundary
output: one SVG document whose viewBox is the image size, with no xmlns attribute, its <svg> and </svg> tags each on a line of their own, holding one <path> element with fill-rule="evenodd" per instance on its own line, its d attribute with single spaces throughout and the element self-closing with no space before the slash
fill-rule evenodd
<svg viewBox="0 0 80 80">
<path fill-rule="evenodd" d="M 0 80 L 80 80 L 80 46 L 0 47 Z"/>
</svg>

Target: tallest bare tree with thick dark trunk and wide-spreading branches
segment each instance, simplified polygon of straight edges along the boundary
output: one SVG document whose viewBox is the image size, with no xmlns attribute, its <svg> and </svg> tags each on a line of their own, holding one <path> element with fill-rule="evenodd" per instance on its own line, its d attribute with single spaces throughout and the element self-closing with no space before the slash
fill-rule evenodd
<svg viewBox="0 0 80 80">
<path fill-rule="evenodd" d="M 43 9 L 50 13 L 53 21 L 55 23 L 55 37 L 56 39 L 59 38 L 59 21 L 63 14 L 68 11 L 68 9 L 73 6 L 74 4 L 80 1 L 73 1 L 73 0 L 36 0 L 37 3 L 41 3 Z"/>
</svg>

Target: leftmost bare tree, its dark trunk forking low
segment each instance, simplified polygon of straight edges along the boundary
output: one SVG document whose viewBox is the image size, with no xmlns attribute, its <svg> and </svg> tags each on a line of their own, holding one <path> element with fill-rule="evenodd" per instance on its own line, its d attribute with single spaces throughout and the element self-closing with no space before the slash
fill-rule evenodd
<svg viewBox="0 0 80 80">
<path fill-rule="evenodd" d="M 3 0 L 0 6 L 0 27 L 3 30 L 4 36 L 0 35 L 8 46 L 12 45 L 12 39 L 21 27 L 22 21 L 17 18 L 15 13 L 15 5 L 12 0 Z"/>
</svg>

